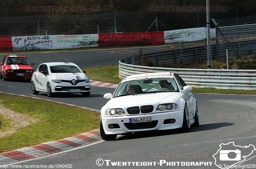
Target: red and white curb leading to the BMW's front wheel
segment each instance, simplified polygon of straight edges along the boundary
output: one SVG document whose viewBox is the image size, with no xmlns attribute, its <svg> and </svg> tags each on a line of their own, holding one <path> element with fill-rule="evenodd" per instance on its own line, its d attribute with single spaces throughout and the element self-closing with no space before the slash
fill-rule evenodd
<svg viewBox="0 0 256 169">
<path fill-rule="evenodd" d="M 100 129 L 96 129 L 73 137 L 3 152 L 0 153 L 0 166 L 69 150 L 100 140 L 102 140 Z"/>
</svg>

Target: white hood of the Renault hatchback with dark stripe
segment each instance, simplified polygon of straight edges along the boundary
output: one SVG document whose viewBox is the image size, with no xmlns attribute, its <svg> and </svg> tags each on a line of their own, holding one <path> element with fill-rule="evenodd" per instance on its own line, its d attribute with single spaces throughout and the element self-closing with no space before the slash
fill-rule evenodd
<svg viewBox="0 0 256 169">
<path fill-rule="evenodd" d="M 86 75 L 81 73 L 52 73 L 52 79 L 61 79 L 61 80 L 84 80 Z"/>
</svg>

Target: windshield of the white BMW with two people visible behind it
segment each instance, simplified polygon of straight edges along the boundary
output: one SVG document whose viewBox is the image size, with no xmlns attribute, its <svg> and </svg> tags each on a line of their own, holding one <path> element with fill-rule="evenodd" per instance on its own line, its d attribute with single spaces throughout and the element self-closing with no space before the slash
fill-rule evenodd
<svg viewBox="0 0 256 169">
<path fill-rule="evenodd" d="M 124 95 L 158 93 L 158 92 L 178 92 L 179 89 L 173 77 L 156 77 L 134 79 L 121 82 L 116 88 L 113 97 Z"/>
</svg>

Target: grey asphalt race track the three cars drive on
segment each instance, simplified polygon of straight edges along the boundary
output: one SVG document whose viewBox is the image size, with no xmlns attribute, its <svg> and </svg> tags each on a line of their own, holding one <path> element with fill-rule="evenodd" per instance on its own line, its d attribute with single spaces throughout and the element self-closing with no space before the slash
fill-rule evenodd
<svg viewBox="0 0 256 169">
<path fill-rule="evenodd" d="M 148 47 L 145 51 L 165 50 L 166 48 L 174 47 Z M 45 61 L 70 60 L 83 68 L 117 64 L 118 60 L 131 56 L 133 51 L 138 52 L 139 49 L 29 53 L 26 55 L 36 65 Z M 0 60 L 2 60 L 3 56 L 0 56 Z M 30 95 L 29 88 L 30 84 L 26 82 L 0 81 L 0 91 L 2 92 Z M 103 94 L 113 93 L 113 91 L 114 88 L 93 86 L 90 97 L 76 94 L 51 99 L 100 110 L 108 101 L 102 97 Z M 192 127 L 187 133 L 180 133 L 179 130 L 167 130 L 125 135 L 118 137 L 116 141 L 98 141 L 68 151 L 60 151 L 52 155 L 32 158 L 13 164 L 23 165 L 23 168 L 27 167 L 26 165 L 47 165 L 48 168 L 50 168 L 49 165 L 55 165 L 55 168 L 58 168 L 57 165 L 66 164 L 66 168 L 68 168 L 67 165 L 72 165 L 72 168 L 80 169 L 100 168 L 99 164 L 102 164 L 101 168 L 112 168 L 114 163 L 111 162 L 126 162 L 126 165 L 130 164 L 130 166 L 123 166 L 122 168 L 218 168 L 214 164 L 215 158 L 212 155 L 217 153 L 221 143 L 234 142 L 235 145 L 240 146 L 248 146 L 249 144 L 256 146 L 255 95 L 194 94 L 194 96 L 198 100 L 200 126 Z M 43 93 L 36 97 L 49 99 Z M 236 147 L 229 146 L 228 150 L 233 150 L 234 148 Z M 242 151 L 242 155 L 245 155 L 245 153 L 248 152 Z M 252 164 L 251 168 L 253 168 L 253 164 L 256 164 L 255 155 L 256 152 L 253 151 L 250 156 L 246 157 L 247 159 L 253 158 L 242 165 Z M 98 165 L 96 162 L 98 162 Z M 203 162 L 204 164 L 190 166 L 193 164 L 192 162 L 195 162 L 195 164 Z M 223 161 L 217 161 L 217 164 L 220 164 L 220 162 Z M 224 167 L 224 164 L 229 163 L 230 161 L 224 161 L 221 164 Z M 171 166 L 168 166 L 168 164 Z M 183 166 L 182 164 L 185 165 Z M 120 163 L 120 165 L 124 164 Z"/>
</svg>

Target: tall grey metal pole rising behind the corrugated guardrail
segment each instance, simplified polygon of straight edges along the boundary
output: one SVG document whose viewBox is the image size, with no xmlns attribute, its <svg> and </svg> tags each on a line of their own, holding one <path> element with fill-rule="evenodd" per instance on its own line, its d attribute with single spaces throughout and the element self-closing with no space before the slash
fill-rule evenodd
<svg viewBox="0 0 256 169">
<path fill-rule="evenodd" d="M 210 36 L 210 5 L 209 0 L 206 0 L 206 24 L 207 24 L 207 50 L 208 50 L 208 62 L 207 62 L 207 68 L 211 69 L 211 36 Z"/>
</svg>

